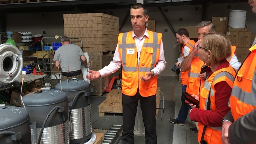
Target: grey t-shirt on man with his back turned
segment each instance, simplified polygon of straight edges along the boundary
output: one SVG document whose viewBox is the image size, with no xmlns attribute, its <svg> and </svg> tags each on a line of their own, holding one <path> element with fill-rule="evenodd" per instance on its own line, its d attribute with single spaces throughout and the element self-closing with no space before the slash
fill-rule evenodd
<svg viewBox="0 0 256 144">
<path fill-rule="evenodd" d="M 81 69 L 80 56 L 84 56 L 84 53 L 79 46 L 65 44 L 55 51 L 53 61 L 60 61 L 62 72 L 77 71 Z"/>
</svg>

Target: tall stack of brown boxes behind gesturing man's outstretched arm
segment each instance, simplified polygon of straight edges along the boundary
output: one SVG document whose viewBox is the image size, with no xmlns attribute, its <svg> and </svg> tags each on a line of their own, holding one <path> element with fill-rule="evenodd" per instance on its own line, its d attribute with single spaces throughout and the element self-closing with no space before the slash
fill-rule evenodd
<svg viewBox="0 0 256 144">
<path fill-rule="evenodd" d="M 119 19 L 102 13 L 64 14 L 64 35 L 82 39 L 82 50 L 88 52 L 91 70 L 98 71 L 112 61 L 119 34 Z M 92 95 L 102 95 L 113 76 L 91 81 Z"/>
</svg>

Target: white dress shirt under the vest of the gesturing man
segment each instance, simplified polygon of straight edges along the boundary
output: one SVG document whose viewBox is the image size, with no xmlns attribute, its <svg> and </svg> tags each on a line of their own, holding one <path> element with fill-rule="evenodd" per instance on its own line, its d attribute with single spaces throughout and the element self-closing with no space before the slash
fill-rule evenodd
<svg viewBox="0 0 256 144">
<path fill-rule="evenodd" d="M 137 53 L 138 53 L 138 66 L 139 66 L 140 51 L 141 51 L 141 48 L 142 48 L 142 45 L 144 43 L 146 36 L 149 37 L 149 35 L 148 35 L 147 29 L 146 29 L 142 38 L 139 38 L 138 36 L 136 36 L 134 31 L 132 31 L 132 36 L 136 43 L 136 48 L 137 48 Z M 121 62 L 121 59 L 119 56 L 118 43 L 117 43 L 117 47 L 116 47 L 116 51 L 115 51 L 113 60 L 110 62 L 110 64 L 108 66 L 105 66 L 104 68 L 100 69 L 98 72 L 100 73 L 101 77 L 108 76 L 111 73 L 116 72 L 121 67 L 121 65 L 122 65 L 122 62 Z M 165 69 L 165 66 L 166 66 L 166 61 L 165 61 L 165 55 L 163 52 L 163 41 L 161 40 L 159 60 L 158 60 L 158 62 L 156 62 L 156 66 L 153 69 L 151 69 L 151 71 L 154 72 L 154 75 L 159 75 Z"/>
</svg>

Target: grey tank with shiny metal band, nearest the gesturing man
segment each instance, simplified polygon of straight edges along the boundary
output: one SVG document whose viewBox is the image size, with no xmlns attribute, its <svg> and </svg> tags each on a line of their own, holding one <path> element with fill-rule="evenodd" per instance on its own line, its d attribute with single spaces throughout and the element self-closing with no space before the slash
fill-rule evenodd
<svg viewBox="0 0 256 144">
<path fill-rule="evenodd" d="M 86 142 L 91 138 L 91 102 L 90 84 L 76 78 L 55 86 L 56 90 L 63 90 L 68 94 L 69 102 L 69 128 L 70 143 L 77 144 Z M 71 111 L 70 111 L 71 110 Z"/>
</svg>

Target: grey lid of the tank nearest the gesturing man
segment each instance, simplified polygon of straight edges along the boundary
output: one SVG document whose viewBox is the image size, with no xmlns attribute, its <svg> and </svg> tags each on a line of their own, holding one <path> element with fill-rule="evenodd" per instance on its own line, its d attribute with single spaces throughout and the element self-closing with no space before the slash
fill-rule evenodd
<svg viewBox="0 0 256 144">
<path fill-rule="evenodd" d="M 61 90 L 61 87 L 63 92 L 67 92 L 67 91 L 71 92 L 71 91 L 84 90 L 84 89 L 90 88 L 90 84 L 85 80 L 78 80 L 74 78 L 72 80 L 69 80 L 68 84 L 67 84 L 67 80 L 65 80 L 61 82 L 61 85 L 60 83 L 57 83 L 55 85 L 56 90 Z"/>
</svg>

